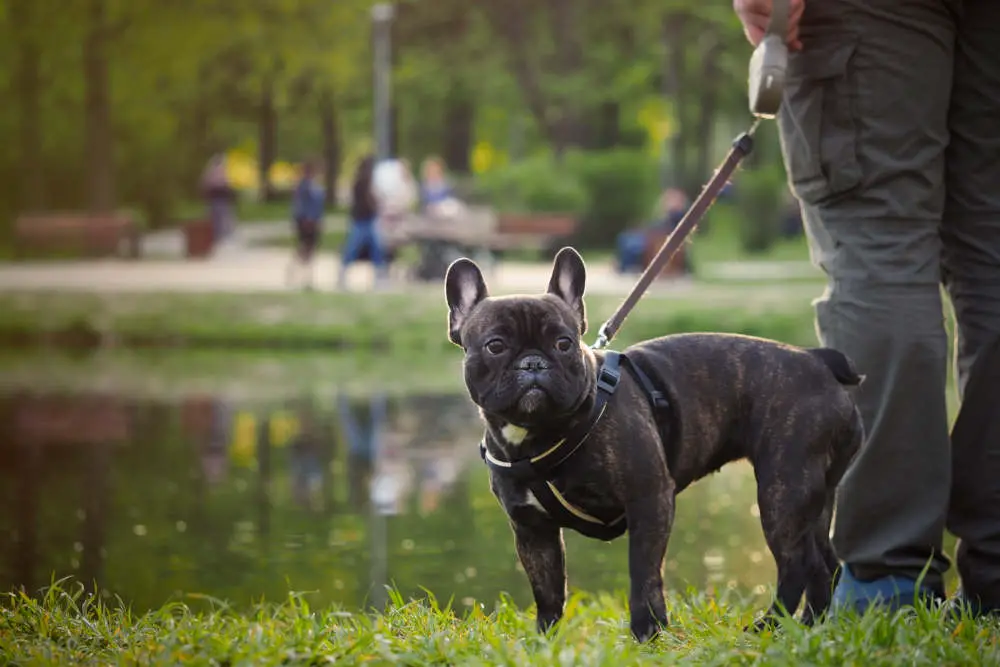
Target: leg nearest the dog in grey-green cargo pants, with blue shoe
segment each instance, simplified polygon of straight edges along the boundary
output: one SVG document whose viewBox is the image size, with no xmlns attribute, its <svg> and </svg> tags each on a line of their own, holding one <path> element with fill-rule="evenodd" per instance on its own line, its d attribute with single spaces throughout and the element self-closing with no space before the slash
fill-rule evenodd
<svg viewBox="0 0 1000 667">
<path fill-rule="evenodd" d="M 824 345 L 866 379 L 867 442 L 837 494 L 837 607 L 943 593 L 950 491 L 940 295 L 954 17 L 947 0 L 807 2 L 778 117 Z"/>
</svg>

